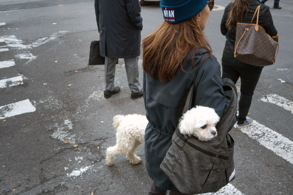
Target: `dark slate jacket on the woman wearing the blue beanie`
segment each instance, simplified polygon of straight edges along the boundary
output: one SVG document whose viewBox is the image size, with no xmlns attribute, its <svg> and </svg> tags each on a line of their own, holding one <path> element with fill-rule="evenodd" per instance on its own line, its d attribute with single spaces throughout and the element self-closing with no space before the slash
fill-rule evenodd
<svg viewBox="0 0 293 195">
<path fill-rule="evenodd" d="M 206 52 L 205 49 L 200 49 L 193 58 L 193 64 L 188 54 L 182 65 L 185 72 L 180 68 L 169 82 L 154 80 L 149 74 L 144 73 L 144 104 L 149 120 L 145 131 L 146 168 L 149 176 L 160 189 L 173 188 L 170 180 L 160 169 L 160 164 L 171 146 L 171 137 L 182 115 L 197 63 Z M 202 64 L 195 86 L 195 104 L 214 108 L 219 117 L 222 117 L 226 97 L 222 87 L 220 65 L 216 57 L 211 56 Z"/>
</svg>

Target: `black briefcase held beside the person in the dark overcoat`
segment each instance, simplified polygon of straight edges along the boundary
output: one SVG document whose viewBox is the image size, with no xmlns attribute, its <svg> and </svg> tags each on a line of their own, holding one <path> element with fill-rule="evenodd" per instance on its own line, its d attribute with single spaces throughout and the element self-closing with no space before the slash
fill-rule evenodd
<svg viewBox="0 0 293 195">
<path fill-rule="evenodd" d="M 88 59 L 88 65 L 104 65 L 105 58 L 100 56 L 100 41 L 92 41 L 90 46 L 90 57 Z M 118 63 L 118 59 L 116 64 Z"/>
</svg>

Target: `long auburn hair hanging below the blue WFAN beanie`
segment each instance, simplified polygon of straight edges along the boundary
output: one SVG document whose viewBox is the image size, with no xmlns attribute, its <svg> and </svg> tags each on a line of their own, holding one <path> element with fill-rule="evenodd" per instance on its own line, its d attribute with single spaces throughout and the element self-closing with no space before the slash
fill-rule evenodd
<svg viewBox="0 0 293 195">
<path fill-rule="evenodd" d="M 192 59 L 197 50 L 203 47 L 212 54 L 196 16 L 188 20 L 170 24 L 166 21 L 142 41 L 142 67 L 152 78 L 161 82 L 170 81 L 183 59 L 192 51 Z"/>
</svg>

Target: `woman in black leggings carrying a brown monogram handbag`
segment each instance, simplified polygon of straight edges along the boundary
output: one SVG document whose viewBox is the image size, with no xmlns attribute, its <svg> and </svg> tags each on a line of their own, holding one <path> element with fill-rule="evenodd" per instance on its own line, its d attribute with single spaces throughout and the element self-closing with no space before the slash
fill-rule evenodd
<svg viewBox="0 0 293 195">
<path fill-rule="evenodd" d="M 229 78 L 235 84 L 241 79 L 240 100 L 237 118 L 239 128 L 247 127 L 252 124 L 251 118 L 246 118 L 251 105 L 252 96 L 263 67 L 253 66 L 234 58 L 234 45 L 236 37 L 237 23 L 251 23 L 253 14 L 257 6 L 260 5 L 258 0 L 235 0 L 230 3 L 225 11 L 221 22 L 221 32 L 226 36 L 226 44 L 222 56 L 222 78 Z M 256 23 L 256 17 L 253 19 Z M 261 4 L 259 11 L 258 25 L 272 37 L 277 35 L 272 15 L 269 7 Z"/>
</svg>

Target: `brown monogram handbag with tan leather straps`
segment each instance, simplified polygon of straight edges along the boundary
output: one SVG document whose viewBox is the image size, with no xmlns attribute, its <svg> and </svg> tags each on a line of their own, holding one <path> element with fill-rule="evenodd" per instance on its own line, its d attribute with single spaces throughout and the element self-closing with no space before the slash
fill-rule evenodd
<svg viewBox="0 0 293 195">
<path fill-rule="evenodd" d="M 275 63 L 279 44 L 258 25 L 259 10 L 260 5 L 253 15 L 254 18 L 257 12 L 256 24 L 252 23 L 253 18 L 250 24 L 237 23 L 234 57 L 241 62 L 263 67 Z"/>
</svg>

